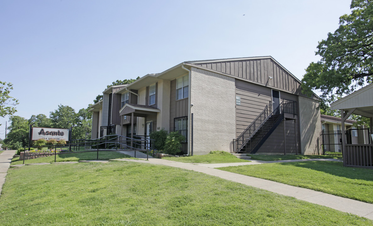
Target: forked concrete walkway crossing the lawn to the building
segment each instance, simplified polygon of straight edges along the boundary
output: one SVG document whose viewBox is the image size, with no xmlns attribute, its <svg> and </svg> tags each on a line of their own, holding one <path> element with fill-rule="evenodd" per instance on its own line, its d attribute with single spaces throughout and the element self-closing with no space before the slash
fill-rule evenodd
<svg viewBox="0 0 373 226">
<path fill-rule="evenodd" d="M 136 153 L 137 158 L 142 158 L 141 155 Z M 134 156 L 134 153 L 126 153 L 127 155 Z M 144 154 L 145 155 L 145 154 Z M 146 159 L 146 155 L 145 155 Z M 117 159 L 119 161 L 133 161 L 152 163 L 157 165 L 167 165 L 170 167 L 182 168 L 186 170 L 193 170 L 202 172 L 208 175 L 220 177 L 229 181 L 249 185 L 252 187 L 261 188 L 274 193 L 282 194 L 285 196 L 291 196 L 299 200 L 308 201 L 310 203 L 319 204 L 321 206 L 327 206 L 332 209 L 336 209 L 342 212 L 356 214 L 358 216 L 366 217 L 373 220 L 373 204 L 364 203 L 349 198 L 343 198 L 339 196 L 333 196 L 320 191 L 314 191 L 307 188 L 294 187 L 287 184 L 281 184 L 275 181 L 264 180 L 256 177 L 249 177 L 241 174 L 232 172 L 217 170 L 217 167 L 235 166 L 235 165 L 253 165 L 253 164 L 265 164 L 270 162 L 300 162 L 300 161 L 341 161 L 337 159 L 295 159 L 295 160 L 281 160 L 281 161 L 258 161 L 252 160 L 252 162 L 235 162 L 235 163 L 222 163 L 222 164 L 192 164 L 184 162 L 175 162 L 158 158 L 150 158 L 147 160 L 135 160 L 135 159 Z"/>
</svg>

